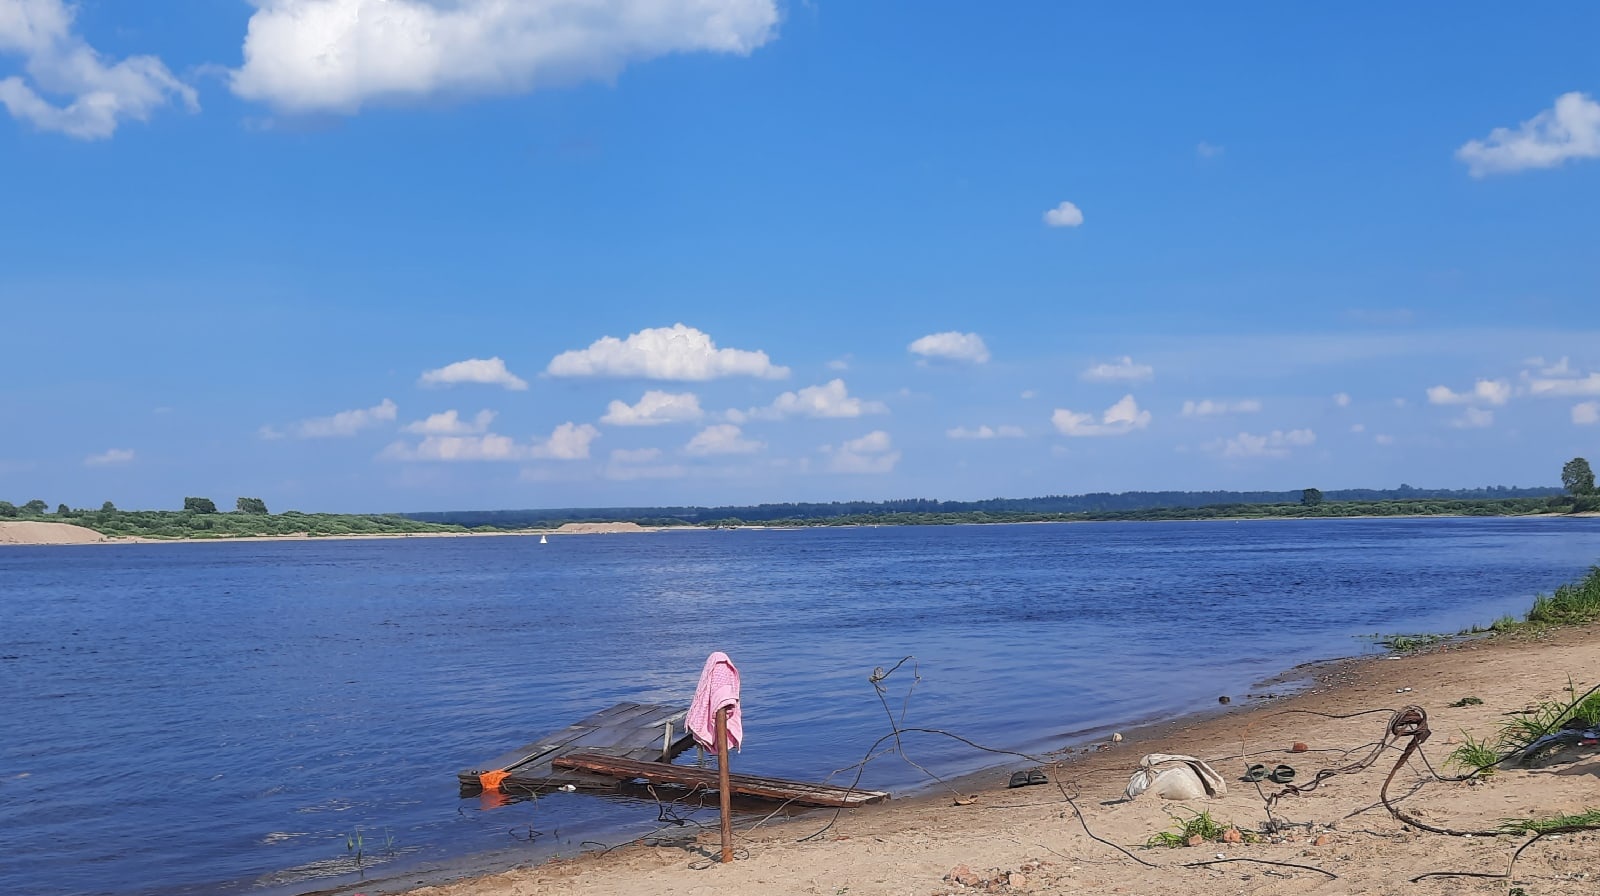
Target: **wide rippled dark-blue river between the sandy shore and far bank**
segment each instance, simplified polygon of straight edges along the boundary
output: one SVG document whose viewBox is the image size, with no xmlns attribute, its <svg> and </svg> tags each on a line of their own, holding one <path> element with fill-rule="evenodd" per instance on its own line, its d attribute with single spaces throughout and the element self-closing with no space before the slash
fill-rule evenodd
<svg viewBox="0 0 1600 896">
<path fill-rule="evenodd" d="M 491 806 L 456 771 L 683 702 L 714 650 L 744 678 L 734 768 L 822 779 L 890 730 L 867 677 L 904 656 L 906 725 L 1048 750 L 1520 614 L 1597 560 L 1600 518 L 3 547 L 0 893 L 373 893 L 653 832 L 654 803 Z"/>
</svg>

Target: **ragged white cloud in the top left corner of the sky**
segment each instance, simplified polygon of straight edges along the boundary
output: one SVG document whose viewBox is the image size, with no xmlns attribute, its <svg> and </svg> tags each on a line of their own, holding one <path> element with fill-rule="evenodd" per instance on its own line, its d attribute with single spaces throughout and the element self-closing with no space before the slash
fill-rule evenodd
<svg viewBox="0 0 1600 896">
<path fill-rule="evenodd" d="M 72 34 L 74 8 L 64 0 L 0 2 L 0 53 L 24 58 L 27 78 L 0 78 L 0 104 L 13 118 L 42 131 L 106 139 L 125 120 L 144 122 L 174 99 L 198 110 L 195 90 L 155 56 L 102 58 Z M 46 96 L 64 98 L 56 106 Z"/>
</svg>

